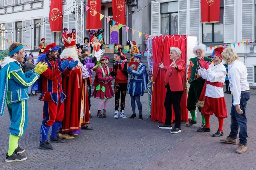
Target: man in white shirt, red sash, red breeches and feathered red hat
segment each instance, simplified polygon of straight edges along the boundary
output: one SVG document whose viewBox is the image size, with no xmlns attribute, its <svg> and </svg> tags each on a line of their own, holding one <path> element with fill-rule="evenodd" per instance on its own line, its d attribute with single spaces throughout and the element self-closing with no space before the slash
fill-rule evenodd
<svg viewBox="0 0 256 170">
<path fill-rule="evenodd" d="M 210 115 L 215 114 L 219 121 L 219 128 L 213 137 L 223 136 L 223 119 L 228 117 L 227 106 L 224 98 L 223 83 L 226 78 L 226 68 L 222 64 L 221 52 L 223 47 L 215 49 L 213 56 L 213 64 L 200 60 L 201 68 L 198 74 L 206 80 L 199 101 L 198 107 L 201 108 L 201 113 L 204 114 L 205 126 L 198 129 L 197 132 L 210 132 Z"/>
</svg>

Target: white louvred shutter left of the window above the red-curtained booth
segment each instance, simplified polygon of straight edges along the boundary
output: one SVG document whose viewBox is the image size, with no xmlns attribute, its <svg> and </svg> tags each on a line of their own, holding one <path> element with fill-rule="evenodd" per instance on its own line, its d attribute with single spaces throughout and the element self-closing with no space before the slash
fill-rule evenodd
<svg viewBox="0 0 256 170">
<path fill-rule="evenodd" d="M 160 35 L 161 21 L 160 21 L 160 3 L 151 2 L 151 35 Z"/>
</svg>

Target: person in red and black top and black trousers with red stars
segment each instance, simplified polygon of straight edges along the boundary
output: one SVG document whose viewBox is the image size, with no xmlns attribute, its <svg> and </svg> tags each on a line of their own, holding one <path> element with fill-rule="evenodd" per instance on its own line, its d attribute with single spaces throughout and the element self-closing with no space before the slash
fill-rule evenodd
<svg viewBox="0 0 256 170">
<path fill-rule="evenodd" d="M 120 52 L 116 52 L 114 54 L 115 63 L 112 69 L 112 76 L 115 76 L 115 114 L 114 119 L 118 118 L 118 107 L 119 107 L 119 99 L 121 94 L 121 109 L 120 109 L 120 117 L 126 118 L 125 115 L 125 96 L 127 90 L 127 80 L 128 80 L 128 72 L 127 72 L 127 64 L 128 62 L 124 61 L 125 58 Z"/>
</svg>

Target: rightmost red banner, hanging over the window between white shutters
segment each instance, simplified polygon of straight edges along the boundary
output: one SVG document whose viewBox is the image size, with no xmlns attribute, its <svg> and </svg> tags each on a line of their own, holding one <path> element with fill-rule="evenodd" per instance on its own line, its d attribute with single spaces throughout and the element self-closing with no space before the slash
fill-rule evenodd
<svg viewBox="0 0 256 170">
<path fill-rule="evenodd" d="M 219 6 L 219 0 L 201 0 L 202 23 L 218 23 Z"/>
</svg>

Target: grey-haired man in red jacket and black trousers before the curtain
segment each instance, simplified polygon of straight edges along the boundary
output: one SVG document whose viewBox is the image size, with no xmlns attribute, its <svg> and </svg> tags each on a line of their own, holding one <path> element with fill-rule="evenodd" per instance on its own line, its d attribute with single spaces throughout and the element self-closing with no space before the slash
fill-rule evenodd
<svg viewBox="0 0 256 170">
<path fill-rule="evenodd" d="M 181 59 L 181 50 L 177 47 L 170 47 L 170 59 L 173 61 L 168 66 L 163 66 L 163 63 L 159 64 L 159 68 L 165 69 L 165 88 L 167 88 L 165 96 L 165 109 L 166 109 L 166 121 L 165 124 L 159 125 L 160 129 L 169 129 L 170 133 L 181 132 L 181 97 L 185 90 L 185 62 Z M 175 114 L 175 126 L 172 129 L 172 107 Z"/>
</svg>

